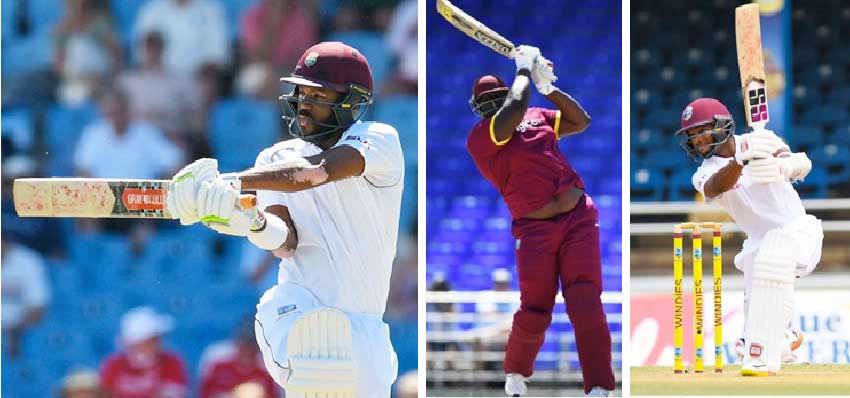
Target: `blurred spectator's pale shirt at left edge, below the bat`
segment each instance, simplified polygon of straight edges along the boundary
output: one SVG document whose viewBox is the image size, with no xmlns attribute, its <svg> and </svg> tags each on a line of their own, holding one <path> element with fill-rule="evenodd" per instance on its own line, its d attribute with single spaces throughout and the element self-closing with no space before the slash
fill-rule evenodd
<svg viewBox="0 0 850 398">
<path fill-rule="evenodd" d="M 15 358 L 24 332 L 41 320 L 50 302 L 50 284 L 41 255 L 18 243 L 5 225 L 0 256 L 3 346 Z"/>
</svg>

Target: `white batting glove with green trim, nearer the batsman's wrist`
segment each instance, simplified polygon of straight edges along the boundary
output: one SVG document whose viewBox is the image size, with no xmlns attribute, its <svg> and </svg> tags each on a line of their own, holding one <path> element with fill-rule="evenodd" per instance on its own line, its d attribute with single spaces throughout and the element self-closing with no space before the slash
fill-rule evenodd
<svg viewBox="0 0 850 398">
<path fill-rule="evenodd" d="M 235 236 L 248 236 L 263 226 L 263 214 L 256 208 L 243 210 L 240 192 L 222 178 L 204 181 L 198 190 L 198 217 L 210 229 Z"/>
</svg>

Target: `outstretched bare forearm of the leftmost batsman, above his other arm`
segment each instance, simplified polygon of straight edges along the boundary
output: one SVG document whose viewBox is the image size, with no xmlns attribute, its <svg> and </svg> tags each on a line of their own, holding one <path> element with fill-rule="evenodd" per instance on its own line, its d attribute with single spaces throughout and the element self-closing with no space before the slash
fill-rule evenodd
<svg viewBox="0 0 850 398">
<path fill-rule="evenodd" d="M 238 175 L 242 189 L 246 191 L 297 192 L 322 185 L 328 180 L 328 173 L 322 164 L 311 167 L 254 167 Z"/>
</svg>

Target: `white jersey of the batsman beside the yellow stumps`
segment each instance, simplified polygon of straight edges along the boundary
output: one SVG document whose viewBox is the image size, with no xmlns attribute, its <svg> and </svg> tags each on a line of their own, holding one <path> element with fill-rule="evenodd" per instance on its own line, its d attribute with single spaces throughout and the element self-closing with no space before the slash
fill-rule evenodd
<svg viewBox="0 0 850 398">
<path fill-rule="evenodd" d="M 713 156 L 705 159 L 694 173 L 691 181 L 705 196 L 703 186 L 721 168 L 734 162 L 733 158 Z M 715 198 L 706 198 L 726 210 L 738 226 L 750 238 L 760 240 L 767 231 L 781 227 L 794 219 L 806 215 L 800 195 L 787 181 L 760 184 L 753 182 L 749 170 L 743 174 L 732 189 Z"/>
</svg>

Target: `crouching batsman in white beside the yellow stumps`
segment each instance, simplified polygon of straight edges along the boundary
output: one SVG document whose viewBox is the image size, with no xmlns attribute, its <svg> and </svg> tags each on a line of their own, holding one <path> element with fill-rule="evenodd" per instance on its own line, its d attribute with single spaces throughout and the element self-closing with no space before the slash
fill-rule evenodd
<svg viewBox="0 0 850 398">
<path fill-rule="evenodd" d="M 806 214 L 792 182 L 812 168 L 805 153 L 791 152 L 769 130 L 735 135 L 720 101 L 700 98 L 682 112 L 680 144 L 702 164 L 694 187 L 747 234 L 735 256 L 744 272 L 744 338 L 736 351 L 741 374 L 767 376 L 794 360 L 803 335 L 790 328 L 794 281 L 810 274 L 821 256 L 821 221 Z"/>
</svg>

